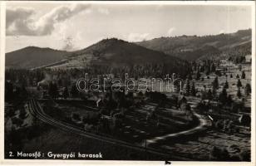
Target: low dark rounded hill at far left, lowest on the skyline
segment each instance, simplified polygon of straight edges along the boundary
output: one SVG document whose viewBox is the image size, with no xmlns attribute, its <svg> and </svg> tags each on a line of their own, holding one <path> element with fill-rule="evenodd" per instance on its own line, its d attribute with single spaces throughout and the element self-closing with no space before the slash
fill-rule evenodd
<svg viewBox="0 0 256 166">
<path fill-rule="evenodd" d="M 27 46 L 20 50 L 6 53 L 5 66 L 6 68 L 31 69 L 62 61 L 67 54 L 69 54 L 67 51 Z"/>
</svg>

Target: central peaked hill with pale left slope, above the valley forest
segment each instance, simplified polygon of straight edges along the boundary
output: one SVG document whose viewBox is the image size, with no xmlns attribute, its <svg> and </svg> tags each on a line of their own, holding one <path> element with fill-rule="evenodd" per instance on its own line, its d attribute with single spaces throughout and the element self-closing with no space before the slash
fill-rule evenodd
<svg viewBox="0 0 256 166">
<path fill-rule="evenodd" d="M 81 67 L 88 64 L 118 67 L 148 63 L 169 63 L 170 66 L 176 66 L 184 64 L 185 61 L 128 41 L 111 38 L 99 41 L 80 51 L 74 51 L 68 61 L 52 67 Z"/>
</svg>

